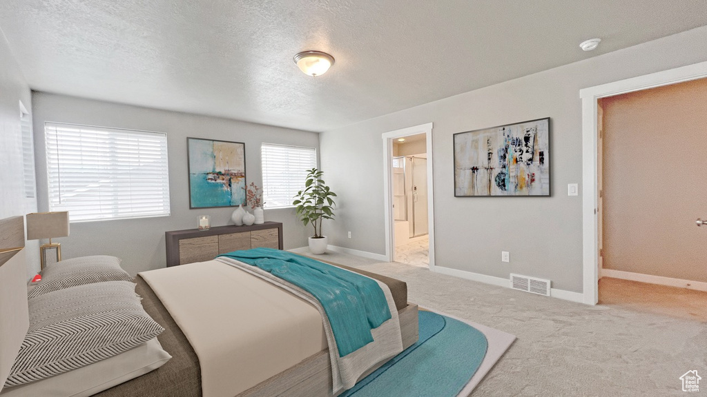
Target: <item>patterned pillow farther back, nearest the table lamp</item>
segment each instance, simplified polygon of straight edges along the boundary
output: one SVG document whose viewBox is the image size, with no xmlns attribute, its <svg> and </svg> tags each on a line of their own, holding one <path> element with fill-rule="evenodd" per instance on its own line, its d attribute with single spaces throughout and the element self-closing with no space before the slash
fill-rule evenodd
<svg viewBox="0 0 707 397">
<path fill-rule="evenodd" d="M 120 259 L 115 256 L 81 256 L 47 266 L 42 271 L 42 281 L 30 290 L 27 297 L 38 297 L 76 285 L 132 280 L 131 275 L 120 267 Z"/>
</svg>

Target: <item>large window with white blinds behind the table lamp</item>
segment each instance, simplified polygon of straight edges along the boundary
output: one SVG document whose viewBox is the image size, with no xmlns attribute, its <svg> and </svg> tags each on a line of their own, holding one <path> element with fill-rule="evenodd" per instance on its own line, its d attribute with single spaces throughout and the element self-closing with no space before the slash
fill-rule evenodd
<svg viewBox="0 0 707 397">
<path fill-rule="evenodd" d="M 49 211 L 71 222 L 170 215 L 167 136 L 45 123 Z"/>
</svg>

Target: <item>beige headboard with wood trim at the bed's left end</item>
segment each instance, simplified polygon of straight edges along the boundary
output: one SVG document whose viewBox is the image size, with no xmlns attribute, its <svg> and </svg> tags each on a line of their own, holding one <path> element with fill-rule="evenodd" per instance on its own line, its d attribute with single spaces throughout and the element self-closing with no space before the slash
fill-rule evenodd
<svg viewBox="0 0 707 397">
<path fill-rule="evenodd" d="M 0 220 L 0 391 L 30 326 L 24 219 Z"/>
</svg>

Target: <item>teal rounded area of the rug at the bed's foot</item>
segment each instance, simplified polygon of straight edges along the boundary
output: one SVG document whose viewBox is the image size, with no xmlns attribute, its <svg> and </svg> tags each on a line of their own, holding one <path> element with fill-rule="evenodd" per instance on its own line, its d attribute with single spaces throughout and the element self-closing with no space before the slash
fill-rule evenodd
<svg viewBox="0 0 707 397">
<path fill-rule="evenodd" d="M 477 372 L 488 345 L 469 324 L 421 310 L 419 340 L 341 396 L 457 396 Z"/>
</svg>

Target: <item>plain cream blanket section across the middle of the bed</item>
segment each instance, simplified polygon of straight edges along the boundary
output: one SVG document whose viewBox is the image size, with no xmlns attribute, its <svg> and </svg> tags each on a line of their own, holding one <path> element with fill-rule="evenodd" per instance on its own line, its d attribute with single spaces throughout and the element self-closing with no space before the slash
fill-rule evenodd
<svg viewBox="0 0 707 397">
<path fill-rule="evenodd" d="M 204 397 L 233 397 L 327 348 L 304 300 L 218 261 L 140 273 L 199 357 Z"/>
</svg>

